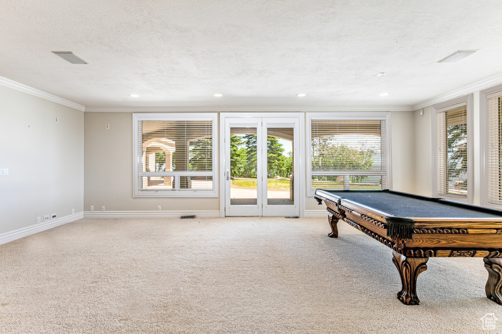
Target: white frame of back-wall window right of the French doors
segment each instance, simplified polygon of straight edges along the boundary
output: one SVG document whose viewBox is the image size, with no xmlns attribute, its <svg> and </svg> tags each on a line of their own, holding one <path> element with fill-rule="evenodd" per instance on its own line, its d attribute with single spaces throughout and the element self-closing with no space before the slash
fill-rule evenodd
<svg viewBox="0 0 502 334">
<path fill-rule="evenodd" d="M 333 112 L 333 113 L 307 113 L 307 145 L 310 146 L 307 155 L 307 197 L 313 197 L 312 189 L 312 121 L 384 121 L 385 122 L 385 148 L 386 148 L 386 189 L 392 189 L 392 159 L 391 159 L 391 113 L 390 112 Z"/>
</svg>

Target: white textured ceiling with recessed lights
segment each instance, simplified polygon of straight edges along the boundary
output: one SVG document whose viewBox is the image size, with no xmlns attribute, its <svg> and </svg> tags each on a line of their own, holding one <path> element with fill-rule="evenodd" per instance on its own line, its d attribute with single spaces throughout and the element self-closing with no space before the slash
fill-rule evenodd
<svg viewBox="0 0 502 334">
<path fill-rule="evenodd" d="M 86 108 L 411 106 L 502 73 L 500 0 L 0 5 L 0 76 Z"/>
</svg>

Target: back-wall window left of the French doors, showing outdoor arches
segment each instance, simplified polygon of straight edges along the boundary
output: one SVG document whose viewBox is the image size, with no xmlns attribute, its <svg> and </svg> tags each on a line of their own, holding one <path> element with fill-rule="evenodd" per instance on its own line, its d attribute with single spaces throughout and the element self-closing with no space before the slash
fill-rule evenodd
<svg viewBox="0 0 502 334">
<path fill-rule="evenodd" d="M 216 193 L 216 114 L 134 114 L 135 197 Z"/>
</svg>

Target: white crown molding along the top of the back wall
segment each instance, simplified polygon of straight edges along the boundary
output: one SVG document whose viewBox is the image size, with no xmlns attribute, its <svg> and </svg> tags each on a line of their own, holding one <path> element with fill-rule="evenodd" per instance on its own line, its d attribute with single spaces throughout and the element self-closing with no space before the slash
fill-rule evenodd
<svg viewBox="0 0 502 334">
<path fill-rule="evenodd" d="M 179 113 L 179 112 L 340 112 L 340 111 L 415 111 L 412 106 L 331 106 L 331 107 L 288 107 L 288 106 L 240 106 L 240 107 L 124 107 L 85 108 L 85 112 L 126 112 L 126 113 Z"/>
</svg>

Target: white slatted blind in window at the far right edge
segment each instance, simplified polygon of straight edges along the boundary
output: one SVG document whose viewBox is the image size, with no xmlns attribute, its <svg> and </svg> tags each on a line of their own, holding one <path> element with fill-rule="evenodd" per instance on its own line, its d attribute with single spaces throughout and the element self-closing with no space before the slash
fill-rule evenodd
<svg viewBox="0 0 502 334">
<path fill-rule="evenodd" d="M 487 199 L 502 204 L 502 92 L 487 97 L 487 147 L 485 170 Z"/>
</svg>

